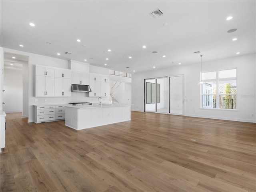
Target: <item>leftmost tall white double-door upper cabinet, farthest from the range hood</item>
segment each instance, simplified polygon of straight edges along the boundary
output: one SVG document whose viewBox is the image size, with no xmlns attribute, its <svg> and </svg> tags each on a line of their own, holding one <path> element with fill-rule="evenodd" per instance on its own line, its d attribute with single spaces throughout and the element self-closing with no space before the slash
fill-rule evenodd
<svg viewBox="0 0 256 192">
<path fill-rule="evenodd" d="M 54 96 L 54 77 L 36 76 L 36 97 L 53 97 Z"/>
</svg>

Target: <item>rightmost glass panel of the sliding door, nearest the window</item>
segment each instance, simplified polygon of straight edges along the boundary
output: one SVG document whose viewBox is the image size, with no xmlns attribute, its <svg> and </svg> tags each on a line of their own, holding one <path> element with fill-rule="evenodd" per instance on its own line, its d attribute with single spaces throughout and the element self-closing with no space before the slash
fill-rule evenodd
<svg viewBox="0 0 256 192">
<path fill-rule="evenodd" d="M 170 77 L 170 114 L 183 114 L 183 76 Z"/>
</svg>

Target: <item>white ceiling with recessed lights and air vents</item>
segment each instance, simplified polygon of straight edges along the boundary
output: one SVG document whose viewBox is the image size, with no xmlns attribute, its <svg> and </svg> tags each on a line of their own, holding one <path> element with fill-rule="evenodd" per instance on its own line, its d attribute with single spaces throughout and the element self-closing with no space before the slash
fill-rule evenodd
<svg viewBox="0 0 256 192">
<path fill-rule="evenodd" d="M 0 5 L 1 47 L 87 59 L 112 70 L 134 73 L 192 64 L 200 62 L 196 51 L 203 61 L 256 52 L 256 1 L 1 0 Z M 164 14 L 153 18 L 150 12 L 158 8 Z M 237 30 L 228 33 L 232 28 Z"/>
</svg>

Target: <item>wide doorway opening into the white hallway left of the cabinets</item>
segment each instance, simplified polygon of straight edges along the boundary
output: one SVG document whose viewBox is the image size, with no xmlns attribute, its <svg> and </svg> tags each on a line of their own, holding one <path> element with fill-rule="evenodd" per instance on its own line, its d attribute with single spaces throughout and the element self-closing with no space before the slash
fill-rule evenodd
<svg viewBox="0 0 256 192">
<path fill-rule="evenodd" d="M 3 110 L 28 117 L 28 56 L 4 52 Z"/>
</svg>

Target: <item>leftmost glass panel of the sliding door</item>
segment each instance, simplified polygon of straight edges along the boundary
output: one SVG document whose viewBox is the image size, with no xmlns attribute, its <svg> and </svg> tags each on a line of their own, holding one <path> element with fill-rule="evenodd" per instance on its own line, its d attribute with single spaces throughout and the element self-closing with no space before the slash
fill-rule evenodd
<svg viewBox="0 0 256 192">
<path fill-rule="evenodd" d="M 156 80 L 145 80 L 145 111 L 156 112 Z"/>
</svg>

